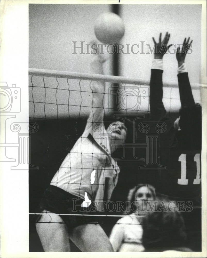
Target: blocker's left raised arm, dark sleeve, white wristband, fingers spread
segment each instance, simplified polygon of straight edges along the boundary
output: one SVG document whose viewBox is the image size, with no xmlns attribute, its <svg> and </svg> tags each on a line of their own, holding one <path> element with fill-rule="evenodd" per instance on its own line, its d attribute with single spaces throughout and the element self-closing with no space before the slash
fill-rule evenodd
<svg viewBox="0 0 207 258">
<path fill-rule="evenodd" d="M 150 77 L 150 112 L 152 119 L 154 121 L 159 121 L 166 114 L 166 110 L 164 108 L 162 97 L 163 97 L 163 84 L 162 84 L 162 65 L 163 65 L 163 56 L 166 53 L 166 50 L 169 46 L 167 46 L 170 38 L 170 34 L 166 32 L 165 37 L 162 41 L 162 33 L 160 33 L 159 42 L 156 43 L 154 37 L 154 60 L 151 70 Z"/>
</svg>

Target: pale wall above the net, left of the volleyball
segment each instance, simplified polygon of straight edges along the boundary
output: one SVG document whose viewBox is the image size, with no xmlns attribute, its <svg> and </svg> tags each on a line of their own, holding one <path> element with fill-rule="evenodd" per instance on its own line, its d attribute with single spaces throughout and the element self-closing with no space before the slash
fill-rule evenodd
<svg viewBox="0 0 207 258">
<path fill-rule="evenodd" d="M 95 39 L 94 20 L 110 8 L 98 4 L 29 5 L 29 67 L 89 72 L 90 55 L 72 54 L 72 41 L 89 44 Z"/>
</svg>

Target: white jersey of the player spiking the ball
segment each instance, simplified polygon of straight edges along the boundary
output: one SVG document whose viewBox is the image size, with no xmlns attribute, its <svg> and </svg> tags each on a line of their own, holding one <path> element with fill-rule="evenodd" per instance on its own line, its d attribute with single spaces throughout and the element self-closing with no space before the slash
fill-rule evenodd
<svg viewBox="0 0 207 258">
<path fill-rule="evenodd" d="M 120 169 L 110 153 L 110 135 L 104 128 L 103 114 L 100 108 L 90 114 L 85 131 L 63 160 L 51 185 L 90 201 L 110 200 Z"/>
</svg>

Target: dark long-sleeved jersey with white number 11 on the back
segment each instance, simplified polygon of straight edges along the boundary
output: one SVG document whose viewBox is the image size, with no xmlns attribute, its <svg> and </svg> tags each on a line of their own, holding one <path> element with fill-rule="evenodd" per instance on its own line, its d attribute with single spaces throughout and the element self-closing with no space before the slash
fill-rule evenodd
<svg viewBox="0 0 207 258">
<path fill-rule="evenodd" d="M 166 131 L 160 134 L 159 140 L 160 165 L 167 166 L 167 170 L 159 172 L 157 190 L 159 193 L 175 199 L 196 198 L 199 200 L 201 194 L 201 150 L 197 147 L 189 148 L 188 144 L 184 144 L 181 131 L 176 130 L 165 116 L 166 110 L 162 102 L 162 73 L 163 70 L 152 69 L 150 79 L 152 119 L 155 122 L 165 122 L 167 126 Z M 182 107 L 195 104 L 187 72 L 178 74 L 178 84 Z M 195 133 L 201 137 L 201 132 Z"/>
</svg>

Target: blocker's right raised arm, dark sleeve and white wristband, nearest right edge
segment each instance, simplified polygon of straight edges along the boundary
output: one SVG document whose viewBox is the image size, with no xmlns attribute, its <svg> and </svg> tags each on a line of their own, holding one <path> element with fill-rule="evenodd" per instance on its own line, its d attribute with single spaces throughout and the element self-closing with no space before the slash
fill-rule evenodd
<svg viewBox="0 0 207 258">
<path fill-rule="evenodd" d="M 190 87 L 187 69 L 185 66 L 185 57 L 188 50 L 190 49 L 190 46 L 192 46 L 192 42 L 193 42 L 191 40 L 189 43 L 189 40 L 190 40 L 190 37 L 187 39 L 187 41 L 185 38 L 182 44 L 182 49 L 178 47 L 176 52 L 176 59 L 178 61 L 178 86 L 179 86 L 181 107 L 192 106 L 195 104 L 192 90 Z"/>
</svg>

